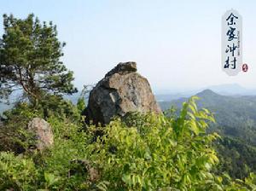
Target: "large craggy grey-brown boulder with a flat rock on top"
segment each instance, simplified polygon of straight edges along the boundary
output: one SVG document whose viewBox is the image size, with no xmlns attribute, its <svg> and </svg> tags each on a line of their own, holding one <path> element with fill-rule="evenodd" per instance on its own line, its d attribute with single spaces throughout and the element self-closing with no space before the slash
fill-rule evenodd
<svg viewBox="0 0 256 191">
<path fill-rule="evenodd" d="M 136 62 L 119 63 L 90 91 L 87 122 L 108 124 L 126 113 L 161 113 L 147 78 L 137 73 Z"/>
</svg>

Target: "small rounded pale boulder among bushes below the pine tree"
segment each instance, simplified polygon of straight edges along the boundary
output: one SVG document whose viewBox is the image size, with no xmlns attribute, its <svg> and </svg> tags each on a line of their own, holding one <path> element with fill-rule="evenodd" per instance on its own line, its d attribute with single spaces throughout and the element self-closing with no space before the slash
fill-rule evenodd
<svg viewBox="0 0 256 191">
<path fill-rule="evenodd" d="M 54 136 L 51 127 L 44 119 L 34 118 L 28 124 L 28 130 L 35 135 L 36 148 L 43 150 L 54 143 Z"/>
</svg>

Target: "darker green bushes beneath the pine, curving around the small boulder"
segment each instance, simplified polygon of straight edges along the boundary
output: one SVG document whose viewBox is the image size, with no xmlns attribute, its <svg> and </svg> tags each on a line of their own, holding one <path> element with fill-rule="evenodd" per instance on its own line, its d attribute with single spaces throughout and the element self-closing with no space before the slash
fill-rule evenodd
<svg viewBox="0 0 256 191">
<path fill-rule="evenodd" d="M 32 133 L 27 131 L 27 124 L 36 117 L 69 120 L 80 124 L 80 111 L 71 101 L 61 96 L 46 96 L 37 108 L 29 102 L 19 102 L 12 109 L 3 113 L 3 127 L 0 128 L 0 151 L 22 153 L 33 145 Z"/>
</svg>

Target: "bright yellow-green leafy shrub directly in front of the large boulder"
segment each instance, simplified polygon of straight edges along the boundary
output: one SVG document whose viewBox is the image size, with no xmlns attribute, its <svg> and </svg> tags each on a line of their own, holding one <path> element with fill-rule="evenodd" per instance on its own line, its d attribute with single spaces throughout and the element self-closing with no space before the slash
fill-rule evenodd
<svg viewBox="0 0 256 191">
<path fill-rule="evenodd" d="M 90 159 L 102 169 L 110 190 L 202 188 L 218 162 L 211 148 L 218 135 L 205 134 L 207 120 L 214 119 L 207 110 L 197 111 L 192 98 L 177 119 L 148 114 L 130 128 L 113 121 L 91 146 Z"/>
</svg>

